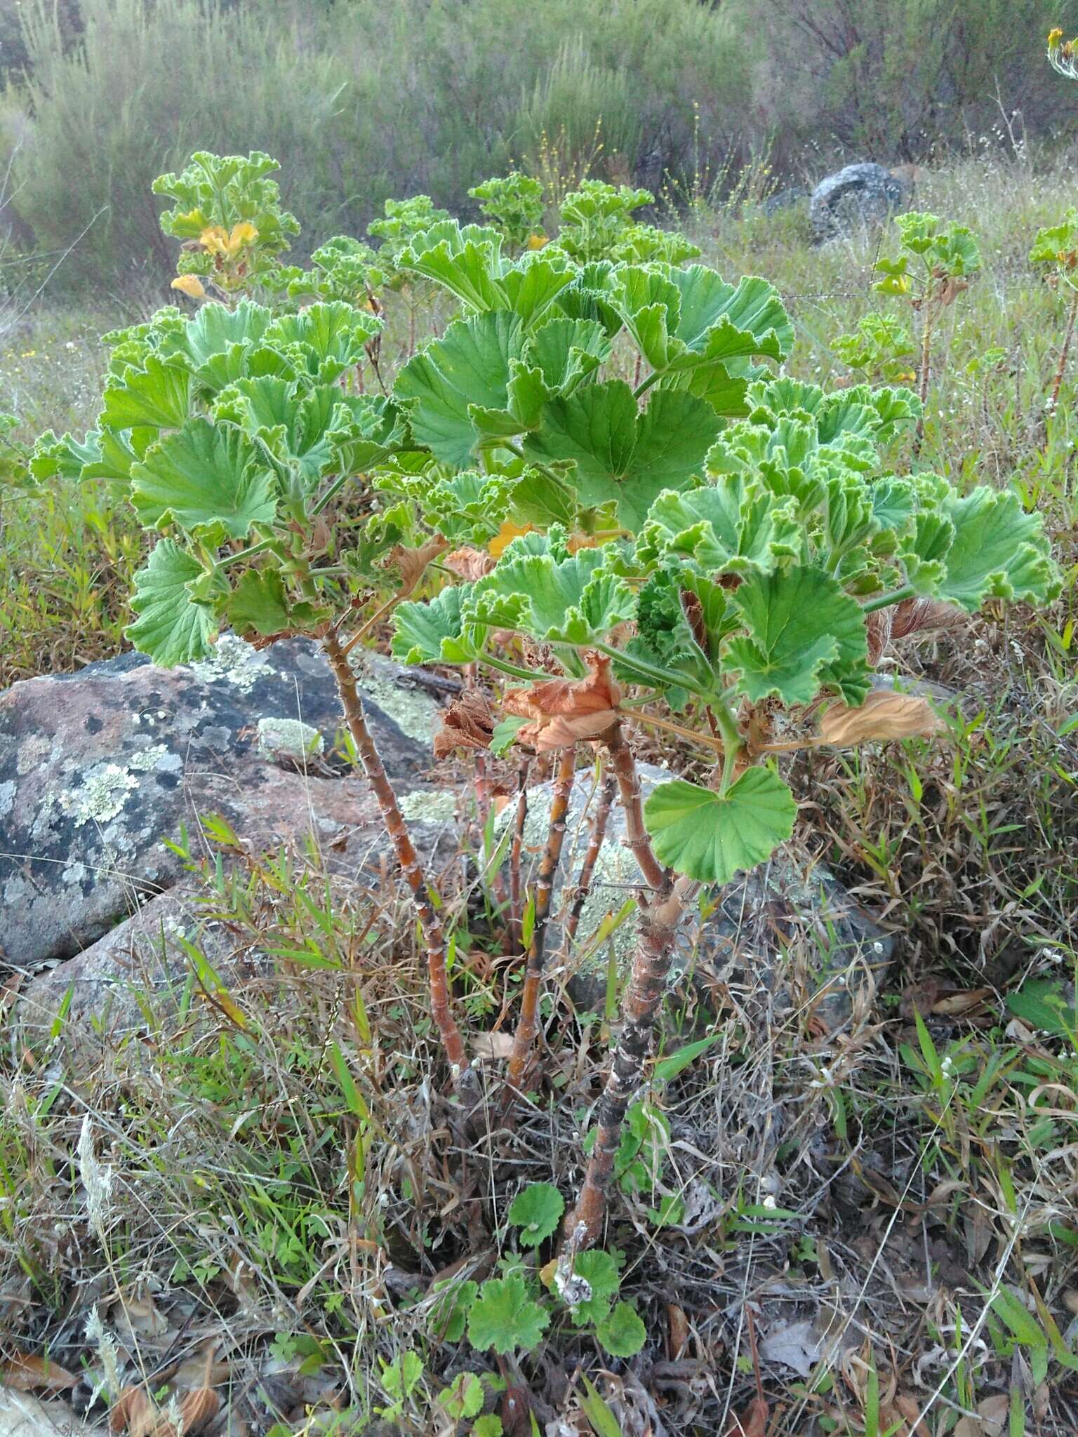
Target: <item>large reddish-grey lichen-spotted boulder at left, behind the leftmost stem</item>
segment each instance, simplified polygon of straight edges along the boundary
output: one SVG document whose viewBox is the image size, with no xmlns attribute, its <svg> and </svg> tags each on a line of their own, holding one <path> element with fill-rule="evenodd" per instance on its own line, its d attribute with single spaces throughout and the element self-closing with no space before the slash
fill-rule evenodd
<svg viewBox="0 0 1078 1437">
<path fill-rule="evenodd" d="M 430 763 L 438 706 L 414 670 L 364 664 L 378 746 L 407 787 Z M 226 635 L 206 662 L 161 670 L 126 654 L 0 694 L 0 958 L 69 957 L 171 888 L 183 859 L 167 841 L 197 832 L 200 813 L 264 846 L 312 822 L 325 836 L 374 821 L 359 780 L 282 772 L 313 769 L 303 760 L 339 727 L 306 639 L 257 651 Z"/>
</svg>

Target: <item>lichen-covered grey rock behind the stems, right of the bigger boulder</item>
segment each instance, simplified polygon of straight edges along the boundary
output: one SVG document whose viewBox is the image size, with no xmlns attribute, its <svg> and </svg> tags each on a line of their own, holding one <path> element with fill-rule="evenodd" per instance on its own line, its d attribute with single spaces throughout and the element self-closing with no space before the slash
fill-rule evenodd
<svg viewBox="0 0 1078 1437">
<path fill-rule="evenodd" d="M 651 789 L 670 777 L 653 764 L 640 766 L 641 787 Z M 591 892 L 581 911 L 576 941 L 563 953 L 562 923 L 572 902 L 573 885 L 588 848 L 589 823 L 596 793 L 591 775 L 579 770 L 569 803 L 562 864 L 555 882 L 548 934 L 548 969 L 568 981 L 573 1000 L 584 1007 L 602 1006 L 611 953 L 619 969 L 630 961 L 635 941 L 635 914 L 628 910 L 640 868 L 625 848 L 625 819 L 614 805 L 607 841 L 599 851 Z M 525 852 L 529 868 L 538 865 L 546 841 L 550 813 L 550 785 L 529 790 L 525 823 Z M 499 816 L 499 836 L 512 822 L 513 805 Z M 851 992 L 867 970 L 883 970 L 891 961 L 894 940 L 855 902 L 838 879 L 821 864 L 806 865 L 791 849 L 779 849 L 770 862 L 742 875 L 717 895 L 719 904 L 706 921 L 686 921 L 680 934 L 676 974 L 690 967 L 710 969 L 729 977 L 749 969 L 773 993 L 791 990 L 783 973 L 783 954 L 795 954 L 808 973 L 812 993 L 798 1000 L 815 1002 L 815 1012 L 828 1027 L 849 1012 Z"/>
</svg>

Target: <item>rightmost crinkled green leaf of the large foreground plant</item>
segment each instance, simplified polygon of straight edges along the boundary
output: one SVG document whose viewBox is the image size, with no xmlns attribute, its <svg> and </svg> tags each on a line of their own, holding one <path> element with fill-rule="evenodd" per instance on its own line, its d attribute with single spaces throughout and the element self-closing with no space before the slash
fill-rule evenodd
<svg viewBox="0 0 1078 1437">
<path fill-rule="evenodd" d="M 952 496 L 944 514 L 954 525 L 944 578 L 936 596 L 976 614 L 987 598 L 1048 604 L 1062 586 L 1041 514 L 1028 514 L 1012 489 L 982 486 Z"/>
</svg>

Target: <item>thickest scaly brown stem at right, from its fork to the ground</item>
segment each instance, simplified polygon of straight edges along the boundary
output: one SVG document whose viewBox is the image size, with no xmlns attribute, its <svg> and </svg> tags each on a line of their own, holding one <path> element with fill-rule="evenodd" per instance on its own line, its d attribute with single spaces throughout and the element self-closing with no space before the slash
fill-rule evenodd
<svg viewBox="0 0 1078 1437">
<path fill-rule="evenodd" d="M 621 1032 L 596 1108 L 595 1147 L 588 1158 L 576 1204 L 565 1221 L 565 1246 L 569 1253 L 591 1247 L 602 1233 L 614 1158 L 621 1147 L 621 1128 L 628 1105 L 644 1081 L 644 1063 L 674 957 L 677 928 L 700 888 L 691 878 L 683 877 L 671 882 L 670 877 L 648 908 L 641 910 L 637 951 L 622 1002 Z"/>
</svg>

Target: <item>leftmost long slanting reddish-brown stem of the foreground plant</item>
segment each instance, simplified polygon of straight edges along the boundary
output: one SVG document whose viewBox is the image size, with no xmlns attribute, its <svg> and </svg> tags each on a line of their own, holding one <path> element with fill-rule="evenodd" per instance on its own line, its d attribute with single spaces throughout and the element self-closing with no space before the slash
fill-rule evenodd
<svg viewBox="0 0 1078 1437">
<path fill-rule="evenodd" d="M 448 976 L 446 973 L 446 935 L 441 930 L 438 912 L 431 902 L 427 875 L 424 874 L 423 865 L 415 854 L 415 848 L 408 833 L 408 825 L 404 821 L 404 815 L 401 813 L 397 802 L 397 795 L 394 793 L 392 785 L 385 773 L 374 736 L 367 726 L 367 716 L 364 714 L 364 706 L 359 698 L 359 690 L 356 687 L 352 665 L 348 662 L 348 654 L 333 629 L 329 629 L 329 632 L 323 635 L 322 648 L 325 650 L 329 667 L 333 671 L 333 678 L 336 680 L 336 690 L 341 696 L 341 707 L 344 708 L 348 731 L 352 734 L 356 753 L 359 754 L 359 762 L 364 767 L 364 773 L 367 775 L 367 782 L 371 785 L 371 792 L 378 802 L 382 823 L 385 825 L 385 832 L 392 844 L 397 862 L 404 874 L 404 881 L 408 884 L 408 888 L 411 888 L 411 895 L 415 902 L 415 914 L 418 917 L 423 941 L 427 948 L 427 977 L 430 983 L 431 1015 L 434 1017 L 434 1025 L 438 1029 L 446 1058 L 448 1059 L 453 1071 L 453 1082 L 461 1098 L 464 1098 L 467 1106 L 471 1109 L 479 1102 L 479 1082 L 474 1069 L 469 1063 L 460 1029 L 457 1027 L 450 1009 Z"/>
</svg>

